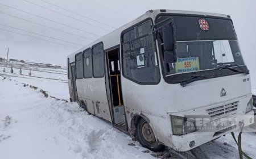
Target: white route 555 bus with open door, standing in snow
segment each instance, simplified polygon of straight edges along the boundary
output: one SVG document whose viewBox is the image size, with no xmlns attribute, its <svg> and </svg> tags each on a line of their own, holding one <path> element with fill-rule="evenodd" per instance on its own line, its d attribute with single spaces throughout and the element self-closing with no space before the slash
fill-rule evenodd
<svg viewBox="0 0 256 159">
<path fill-rule="evenodd" d="M 150 10 L 67 63 L 71 101 L 153 151 L 184 152 L 254 121 L 229 15 Z"/>
</svg>

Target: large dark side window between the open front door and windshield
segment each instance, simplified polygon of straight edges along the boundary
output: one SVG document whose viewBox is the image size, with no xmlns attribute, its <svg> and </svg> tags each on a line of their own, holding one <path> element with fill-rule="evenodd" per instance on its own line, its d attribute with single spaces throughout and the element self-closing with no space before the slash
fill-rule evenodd
<svg viewBox="0 0 256 159">
<path fill-rule="evenodd" d="M 122 34 L 123 75 L 137 83 L 160 81 L 152 22 L 147 20 Z"/>
</svg>

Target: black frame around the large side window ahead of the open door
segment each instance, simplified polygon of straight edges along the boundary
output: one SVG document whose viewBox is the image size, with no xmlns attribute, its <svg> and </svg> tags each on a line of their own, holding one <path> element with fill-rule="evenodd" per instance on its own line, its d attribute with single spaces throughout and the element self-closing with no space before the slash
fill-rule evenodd
<svg viewBox="0 0 256 159">
<path fill-rule="evenodd" d="M 155 60 L 158 62 L 158 72 L 159 72 L 159 80 L 157 82 L 139 82 L 139 81 L 134 80 L 133 78 L 125 76 L 125 73 L 123 72 L 123 34 L 132 30 L 134 27 L 139 26 L 140 24 L 142 24 L 144 22 L 147 22 L 148 20 L 150 20 L 152 26 L 154 26 L 154 20 L 152 18 L 146 18 L 146 19 L 143 19 L 142 21 L 134 24 L 133 26 L 131 26 L 129 28 L 126 28 L 125 30 L 123 30 L 121 32 L 121 37 L 120 37 L 120 42 L 121 42 L 120 43 L 120 45 L 121 45 L 121 58 L 120 58 L 120 60 L 121 60 L 121 72 L 122 72 L 123 77 L 125 77 L 126 79 L 128 79 L 130 81 L 138 83 L 139 85 L 158 85 L 161 81 L 162 73 L 160 72 L 160 64 L 159 64 L 159 57 L 158 57 L 158 45 L 157 45 L 156 41 L 154 41 L 155 49 L 156 49 L 156 59 Z M 144 37 L 144 36 L 145 35 L 143 35 L 142 37 Z"/>
</svg>

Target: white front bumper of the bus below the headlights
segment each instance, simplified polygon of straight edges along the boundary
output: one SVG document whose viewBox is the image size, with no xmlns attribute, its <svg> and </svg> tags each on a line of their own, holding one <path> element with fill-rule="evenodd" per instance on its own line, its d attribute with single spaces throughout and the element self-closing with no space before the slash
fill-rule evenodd
<svg viewBox="0 0 256 159">
<path fill-rule="evenodd" d="M 254 111 L 250 111 L 245 115 L 236 115 L 232 118 L 236 118 L 236 124 L 229 126 L 228 128 L 221 129 L 221 131 L 196 131 L 188 133 L 187 135 L 171 135 L 171 148 L 180 152 L 191 150 L 199 147 L 209 141 L 217 139 L 227 133 L 241 130 L 241 123 L 244 123 L 244 127 L 254 123 Z M 254 129 L 254 132 L 256 129 Z"/>
</svg>

